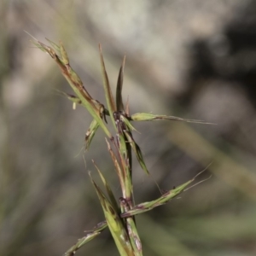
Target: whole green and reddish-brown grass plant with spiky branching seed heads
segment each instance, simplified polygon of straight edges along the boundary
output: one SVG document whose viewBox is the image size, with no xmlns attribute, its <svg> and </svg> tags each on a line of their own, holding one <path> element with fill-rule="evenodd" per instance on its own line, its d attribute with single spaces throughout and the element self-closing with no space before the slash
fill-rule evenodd
<svg viewBox="0 0 256 256">
<path fill-rule="evenodd" d="M 98 200 L 102 205 L 102 211 L 104 212 L 105 220 L 87 232 L 86 236 L 80 238 L 73 247 L 70 247 L 65 253 L 66 256 L 71 256 L 84 246 L 88 241 L 96 238 L 108 227 L 113 241 L 122 256 L 142 256 L 143 245 L 140 236 L 137 231 L 137 225 L 135 221 L 135 215 L 141 214 L 152 210 L 154 207 L 159 207 L 171 201 L 177 195 L 180 195 L 185 189 L 189 188 L 189 184 L 195 181 L 195 177 L 189 180 L 187 183 L 179 185 L 177 188 L 170 189 L 161 193 L 160 197 L 153 200 L 135 204 L 132 186 L 132 155 L 135 154 L 139 165 L 143 171 L 149 175 L 148 168 L 143 159 L 143 153 L 137 142 L 132 136 L 132 132 L 135 131 L 133 123 L 136 121 L 155 121 L 155 120 L 173 120 L 183 122 L 193 122 L 201 124 L 209 124 L 201 120 L 195 119 L 182 119 L 174 116 L 166 116 L 154 113 L 133 113 L 130 114 L 129 104 L 126 106 L 122 100 L 122 88 L 124 80 L 124 68 L 125 57 L 122 65 L 119 69 L 119 77 L 116 86 L 115 100 L 113 92 L 110 89 L 108 81 L 108 73 L 106 71 L 102 47 L 99 45 L 100 61 L 102 66 L 102 79 L 103 88 L 105 91 L 105 97 L 107 107 L 98 102 L 96 99 L 90 96 L 90 93 L 85 89 L 79 75 L 74 72 L 70 66 L 69 58 L 64 46 L 61 44 L 55 44 L 48 40 L 49 45 L 39 42 L 37 39 L 32 40 L 39 49 L 48 53 L 49 56 L 60 67 L 62 75 L 67 79 L 67 82 L 73 89 L 74 95 L 63 93 L 67 96 L 67 99 L 73 102 L 73 104 L 80 104 L 90 113 L 92 122 L 88 131 L 85 134 L 85 149 L 90 148 L 90 143 L 93 137 L 96 135 L 96 131 L 101 128 L 106 134 L 106 149 L 113 160 L 113 166 L 116 171 L 116 175 L 119 178 L 119 186 L 121 193 L 119 200 L 117 201 L 113 195 L 113 191 L 108 184 L 108 180 L 104 177 L 104 174 L 96 166 L 96 170 L 99 177 L 102 180 L 105 191 L 102 191 L 96 184 L 94 179 L 90 176 L 91 183 L 96 190 Z M 110 123 L 113 125 L 114 134 L 109 131 L 107 119 L 110 118 Z M 133 153 L 133 154 L 132 154 Z M 197 176 L 196 176 L 197 177 Z"/>
</svg>

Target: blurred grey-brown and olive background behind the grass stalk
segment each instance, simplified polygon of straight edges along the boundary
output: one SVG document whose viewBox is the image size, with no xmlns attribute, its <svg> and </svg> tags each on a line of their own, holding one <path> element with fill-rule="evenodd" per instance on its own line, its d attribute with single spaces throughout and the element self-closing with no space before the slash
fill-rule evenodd
<svg viewBox="0 0 256 256">
<path fill-rule="evenodd" d="M 29 32 L 65 45 L 84 86 L 104 102 L 98 44 L 124 100 L 218 125 L 135 124 L 151 176 L 134 163 L 137 203 L 195 177 L 206 182 L 137 217 L 144 255 L 256 254 L 256 2 L 63 0 L 0 3 L 0 255 L 62 255 L 104 217 L 91 160 L 120 188 L 104 134 L 84 153 L 91 121 Z M 24 32 L 26 31 L 26 32 Z M 118 255 L 108 230 L 77 255 Z"/>
</svg>

